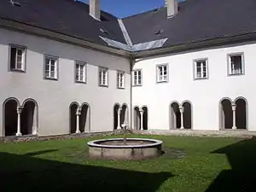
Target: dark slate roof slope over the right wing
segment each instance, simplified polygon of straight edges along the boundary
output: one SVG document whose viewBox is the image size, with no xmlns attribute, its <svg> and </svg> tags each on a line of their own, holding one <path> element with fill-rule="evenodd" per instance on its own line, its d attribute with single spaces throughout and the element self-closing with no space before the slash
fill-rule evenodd
<svg viewBox="0 0 256 192">
<path fill-rule="evenodd" d="M 178 7 L 170 19 L 166 8 L 124 18 L 132 44 L 168 38 L 164 46 L 172 46 L 256 32 L 255 0 L 187 0 Z"/>
</svg>

